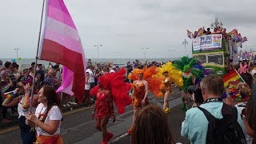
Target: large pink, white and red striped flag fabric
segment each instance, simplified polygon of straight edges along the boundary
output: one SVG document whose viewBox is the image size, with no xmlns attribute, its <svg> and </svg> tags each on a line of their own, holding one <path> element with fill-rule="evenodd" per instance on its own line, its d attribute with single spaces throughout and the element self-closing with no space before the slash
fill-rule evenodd
<svg viewBox="0 0 256 144">
<path fill-rule="evenodd" d="M 63 0 L 46 1 L 45 18 L 39 58 L 63 65 L 62 86 L 57 91 L 74 94 L 81 103 L 86 62 L 78 30 Z"/>
</svg>

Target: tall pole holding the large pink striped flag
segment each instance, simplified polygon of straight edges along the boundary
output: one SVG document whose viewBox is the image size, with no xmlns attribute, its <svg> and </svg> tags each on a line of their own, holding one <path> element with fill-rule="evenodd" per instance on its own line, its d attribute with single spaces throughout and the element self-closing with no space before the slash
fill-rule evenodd
<svg viewBox="0 0 256 144">
<path fill-rule="evenodd" d="M 42 17 L 43 17 L 45 2 L 46 2 L 46 0 L 43 0 L 43 2 L 42 2 L 42 14 L 41 14 L 41 22 L 40 22 L 40 28 L 39 28 L 39 36 L 38 36 L 38 50 L 37 50 L 37 54 L 36 54 L 36 57 L 35 57 L 34 75 L 33 75 L 33 83 L 32 83 L 31 98 L 30 98 L 30 113 L 31 113 L 33 96 L 34 96 L 34 82 L 35 82 L 36 70 L 37 70 L 37 66 L 38 66 L 38 51 L 39 51 L 39 43 L 40 43 L 40 38 L 41 38 Z"/>
</svg>

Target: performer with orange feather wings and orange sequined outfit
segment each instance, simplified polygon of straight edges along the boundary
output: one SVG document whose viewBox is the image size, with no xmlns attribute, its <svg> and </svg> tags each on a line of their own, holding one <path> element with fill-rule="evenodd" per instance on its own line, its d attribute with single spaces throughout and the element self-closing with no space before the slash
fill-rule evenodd
<svg viewBox="0 0 256 144">
<path fill-rule="evenodd" d="M 128 130 L 128 134 L 131 134 L 134 127 L 134 122 L 138 117 L 138 111 L 142 109 L 143 106 L 147 106 L 149 104 L 147 95 L 150 90 L 155 96 L 158 96 L 159 93 L 159 85 L 162 83 L 161 78 L 154 77 L 155 74 L 158 74 L 157 67 L 152 66 L 148 69 L 134 69 L 131 74 L 129 74 L 128 78 L 134 80 L 133 82 L 133 93 L 132 93 L 132 101 L 134 104 L 134 117 L 133 123 Z"/>
</svg>

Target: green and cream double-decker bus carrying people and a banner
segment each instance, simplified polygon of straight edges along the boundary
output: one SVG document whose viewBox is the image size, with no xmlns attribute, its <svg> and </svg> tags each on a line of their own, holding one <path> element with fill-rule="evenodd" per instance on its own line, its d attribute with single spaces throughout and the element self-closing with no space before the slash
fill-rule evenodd
<svg viewBox="0 0 256 144">
<path fill-rule="evenodd" d="M 218 18 L 212 23 L 211 29 L 213 31 L 202 27 L 194 34 L 187 30 L 187 36 L 192 39 L 192 56 L 197 58 L 210 74 L 222 76 L 227 72 L 230 59 L 234 65 L 238 64 L 238 47 L 242 48 L 242 42 L 246 42 L 247 38 L 242 38 L 236 29 L 226 33 L 226 28 L 222 27 Z"/>
</svg>

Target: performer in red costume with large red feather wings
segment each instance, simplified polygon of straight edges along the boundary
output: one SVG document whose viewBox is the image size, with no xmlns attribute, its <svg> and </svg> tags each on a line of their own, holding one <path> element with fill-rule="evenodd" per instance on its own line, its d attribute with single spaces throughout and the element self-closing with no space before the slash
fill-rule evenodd
<svg viewBox="0 0 256 144">
<path fill-rule="evenodd" d="M 118 106 L 119 114 L 124 113 L 125 107 L 131 104 L 128 94 L 131 85 L 124 82 L 125 74 L 125 69 L 105 74 L 98 78 L 98 86 L 90 90 L 91 95 L 97 95 L 92 118 L 96 117 L 95 128 L 102 131 L 102 144 L 106 144 L 114 136 L 106 131 L 109 118 L 115 122 L 113 101 Z"/>
</svg>

